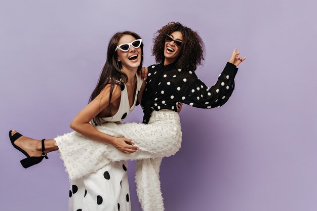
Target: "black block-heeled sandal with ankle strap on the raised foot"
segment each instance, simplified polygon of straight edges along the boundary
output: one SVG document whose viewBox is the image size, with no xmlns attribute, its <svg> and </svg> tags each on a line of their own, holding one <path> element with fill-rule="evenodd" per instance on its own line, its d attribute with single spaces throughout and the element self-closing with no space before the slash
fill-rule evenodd
<svg viewBox="0 0 317 211">
<path fill-rule="evenodd" d="M 20 160 L 20 162 L 24 168 L 28 168 L 32 165 L 35 165 L 35 164 L 41 162 L 43 160 L 43 158 L 49 159 L 49 157 L 46 155 L 46 152 L 45 152 L 45 145 L 44 145 L 45 139 L 42 139 L 42 156 L 41 157 L 33 157 L 33 156 L 30 157 L 30 155 L 28 155 L 26 153 L 26 151 L 24 151 L 23 149 L 21 149 L 20 147 L 18 147 L 17 145 L 14 144 L 14 142 L 18 138 L 20 138 L 22 135 L 19 133 L 15 133 L 13 136 L 11 136 L 11 132 L 12 131 L 9 131 L 9 138 L 10 138 L 11 144 L 13 145 L 14 148 L 19 150 L 20 152 L 22 152 L 26 156 L 26 158 L 24 158 L 23 160 Z"/>
</svg>

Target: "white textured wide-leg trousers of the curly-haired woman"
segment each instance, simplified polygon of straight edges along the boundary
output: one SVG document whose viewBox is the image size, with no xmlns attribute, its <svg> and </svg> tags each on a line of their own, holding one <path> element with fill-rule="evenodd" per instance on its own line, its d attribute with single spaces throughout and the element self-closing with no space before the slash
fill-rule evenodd
<svg viewBox="0 0 317 211">
<path fill-rule="evenodd" d="M 96 129 L 114 137 L 134 141 L 138 151 L 124 154 L 76 132 L 55 138 L 66 172 L 71 180 L 99 170 L 111 161 L 137 159 L 136 184 L 144 211 L 163 211 L 160 165 L 163 157 L 174 155 L 181 146 L 179 116 L 172 110 L 153 111 L 148 124 L 108 122 Z"/>
</svg>

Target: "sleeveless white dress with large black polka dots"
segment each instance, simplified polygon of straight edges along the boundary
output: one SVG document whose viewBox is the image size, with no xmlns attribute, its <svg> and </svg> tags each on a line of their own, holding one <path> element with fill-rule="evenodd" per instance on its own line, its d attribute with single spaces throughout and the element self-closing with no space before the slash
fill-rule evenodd
<svg viewBox="0 0 317 211">
<path fill-rule="evenodd" d="M 121 102 L 112 117 L 103 118 L 105 122 L 121 121 L 134 109 L 137 93 L 142 80 L 137 76 L 137 92 L 130 108 L 127 87 L 121 86 Z M 72 180 L 69 190 L 69 211 L 131 211 L 130 192 L 127 176 L 128 162 L 110 162 L 98 171 L 83 178 Z"/>
</svg>

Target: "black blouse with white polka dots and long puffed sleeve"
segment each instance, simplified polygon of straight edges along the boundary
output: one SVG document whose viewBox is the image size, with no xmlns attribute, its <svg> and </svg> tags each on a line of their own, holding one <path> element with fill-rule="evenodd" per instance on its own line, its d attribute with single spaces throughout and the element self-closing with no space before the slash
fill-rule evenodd
<svg viewBox="0 0 317 211">
<path fill-rule="evenodd" d="M 147 123 L 153 110 L 177 110 L 182 102 L 197 108 L 220 107 L 234 90 L 237 67 L 227 62 L 217 82 L 207 87 L 194 71 L 178 69 L 175 64 L 163 63 L 148 67 L 146 87 L 142 97 L 143 123 Z"/>
</svg>

